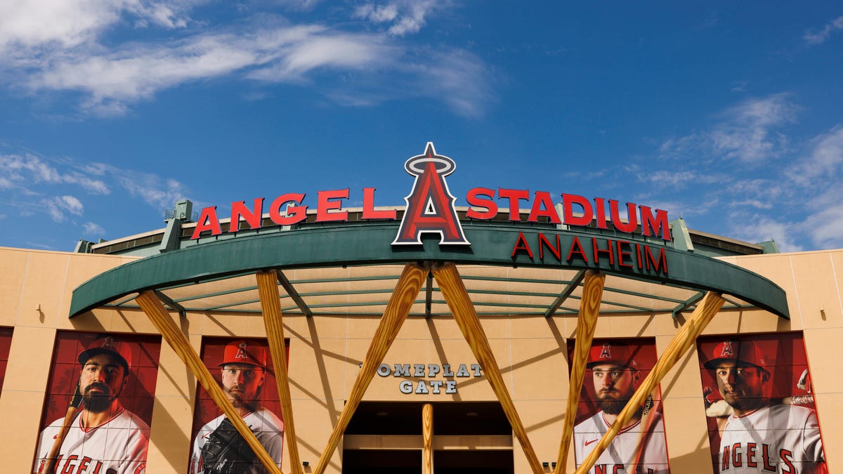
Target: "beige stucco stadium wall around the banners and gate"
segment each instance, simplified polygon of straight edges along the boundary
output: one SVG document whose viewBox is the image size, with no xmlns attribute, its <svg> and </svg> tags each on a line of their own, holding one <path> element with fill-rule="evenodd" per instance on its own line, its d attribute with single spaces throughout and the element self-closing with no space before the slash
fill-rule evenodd
<svg viewBox="0 0 843 474">
<path fill-rule="evenodd" d="M 130 257 L 79 255 L 0 248 L 0 326 L 13 326 L 8 371 L 0 396 L 0 456 L 4 471 L 26 472 L 32 466 L 38 424 L 50 372 L 57 330 L 155 334 L 139 311 L 95 310 L 69 320 L 72 289 L 89 277 L 131 261 Z M 791 320 L 765 311 L 724 311 L 706 334 L 803 331 L 813 377 L 819 421 L 830 471 L 843 469 L 835 455 L 843 446 L 843 382 L 835 376 L 843 336 L 843 250 L 742 256 L 726 259 L 770 278 L 787 291 Z M 686 313 L 685 317 L 690 315 Z M 258 315 L 191 314 L 174 319 L 198 350 L 202 337 L 265 337 Z M 682 318 L 679 318 L 682 320 Z M 669 314 L 606 315 L 595 337 L 655 337 L 659 353 L 679 328 Z M 291 339 L 289 376 L 298 448 L 311 466 L 324 449 L 330 430 L 351 391 L 359 364 L 378 320 L 373 317 L 288 317 Z M 484 317 L 497 364 L 540 461 L 556 461 L 567 396 L 566 338 L 576 330 L 575 317 Z M 662 382 L 664 420 L 670 466 L 674 472 L 711 472 L 706 417 L 695 349 L 686 354 Z M 475 358 L 454 321 L 411 318 L 389 350 L 387 364 L 474 364 Z M 403 395 L 392 377 L 376 376 L 365 400 L 495 400 L 485 379 L 458 383 L 456 395 Z M 196 380 L 175 353 L 162 343 L 148 459 L 148 472 L 179 473 L 187 469 Z M 529 472 L 513 441 L 516 472 Z M 569 471 L 572 471 L 572 458 Z M 338 472 L 340 450 L 328 471 Z M 287 456 L 283 471 L 288 472 Z M 550 470 L 548 470 L 550 471 Z"/>
</svg>

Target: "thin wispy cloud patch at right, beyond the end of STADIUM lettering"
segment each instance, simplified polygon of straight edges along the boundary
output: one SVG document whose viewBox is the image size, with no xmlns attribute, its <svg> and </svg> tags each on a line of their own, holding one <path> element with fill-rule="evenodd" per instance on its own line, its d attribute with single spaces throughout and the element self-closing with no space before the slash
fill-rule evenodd
<svg viewBox="0 0 843 474">
<path fill-rule="evenodd" d="M 708 216 L 723 234 L 784 251 L 843 247 L 843 125 L 795 139 L 787 132 L 802 111 L 791 94 L 744 100 L 624 170 L 658 186 L 647 197 L 669 202 L 672 217 Z"/>
</svg>

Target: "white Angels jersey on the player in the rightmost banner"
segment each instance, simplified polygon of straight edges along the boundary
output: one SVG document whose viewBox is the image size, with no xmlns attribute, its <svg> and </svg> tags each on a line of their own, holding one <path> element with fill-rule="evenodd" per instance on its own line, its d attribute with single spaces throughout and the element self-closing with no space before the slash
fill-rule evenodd
<svg viewBox="0 0 843 474">
<path fill-rule="evenodd" d="M 771 405 L 728 417 L 720 440 L 720 471 L 826 472 L 817 415 L 807 407 Z"/>
</svg>

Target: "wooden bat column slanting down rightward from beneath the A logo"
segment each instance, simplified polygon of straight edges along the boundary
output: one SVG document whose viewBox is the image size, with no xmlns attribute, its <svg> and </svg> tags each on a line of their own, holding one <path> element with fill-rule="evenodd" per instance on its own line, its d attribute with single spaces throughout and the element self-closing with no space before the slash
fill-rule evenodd
<svg viewBox="0 0 843 474">
<path fill-rule="evenodd" d="M 503 383 L 501 369 L 497 366 L 495 355 L 491 353 L 486 332 L 483 331 L 480 320 L 477 318 L 474 304 L 471 303 L 471 299 L 465 291 L 465 285 L 462 278 L 459 277 L 457 267 L 453 263 L 438 264 L 432 268 L 432 272 L 433 277 L 439 284 L 439 289 L 442 290 L 445 301 L 448 302 L 448 308 L 454 314 L 454 320 L 457 321 L 459 330 L 462 331 L 465 341 L 469 343 L 471 352 L 474 353 L 477 362 L 483 367 L 491 390 L 495 392 L 497 400 L 501 402 L 503 412 L 507 415 L 509 424 L 512 426 L 513 433 L 518 438 L 521 448 L 524 449 L 524 455 L 527 456 L 530 468 L 534 474 L 545 474 L 539 458 L 535 455 L 533 444 L 529 442 L 527 430 L 524 429 L 524 423 L 521 423 L 521 417 L 518 416 L 513 399 L 509 396 L 507 386 Z"/>
</svg>

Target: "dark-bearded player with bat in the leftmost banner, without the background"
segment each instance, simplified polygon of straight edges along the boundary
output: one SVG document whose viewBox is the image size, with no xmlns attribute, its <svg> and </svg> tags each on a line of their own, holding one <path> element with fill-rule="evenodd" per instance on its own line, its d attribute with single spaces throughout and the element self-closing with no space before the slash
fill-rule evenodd
<svg viewBox="0 0 843 474">
<path fill-rule="evenodd" d="M 61 347 L 62 344 L 57 344 L 56 351 L 59 352 Z M 68 347 L 67 344 L 64 347 Z M 122 402 L 134 402 L 137 395 L 133 393 L 134 388 L 140 385 L 135 377 L 133 388 L 129 388 L 133 348 L 137 347 L 137 342 L 106 336 L 87 344 L 78 353 L 76 367 L 81 369 L 73 373 L 78 376 L 72 376 L 70 406 L 63 405 L 67 407 L 65 416 L 59 417 L 41 432 L 35 472 L 143 474 L 146 471 L 148 423 L 129 411 Z M 158 348 L 153 347 L 154 355 L 147 357 L 155 358 L 156 364 Z M 67 374 L 58 373 L 73 367 L 73 364 L 54 364 L 56 366 L 54 380 L 61 381 L 71 376 L 69 370 Z M 154 385 L 148 388 L 154 392 Z M 67 394 L 67 391 L 64 393 Z M 148 398 L 152 400 L 151 396 Z M 51 402 L 50 397 L 47 403 L 57 405 Z"/>
</svg>

